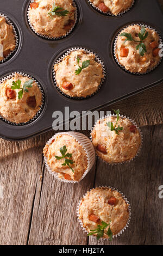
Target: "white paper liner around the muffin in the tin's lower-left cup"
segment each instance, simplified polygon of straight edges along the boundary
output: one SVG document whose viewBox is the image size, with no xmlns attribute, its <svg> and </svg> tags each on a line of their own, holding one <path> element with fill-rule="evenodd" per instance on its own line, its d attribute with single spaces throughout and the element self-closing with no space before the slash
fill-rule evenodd
<svg viewBox="0 0 163 256">
<path fill-rule="evenodd" d="M 15 126 L 22 126 L 22 125 L 27 125 L 27 124 L 32 123 L 37 117 L 39 117 L 39 115 L 40 115 L 40 113 L 41 113 L 41 111 L 42 111 L 42 109 L 43 109 L 43 105 L 44 105 L 44 92 L 43 92 L 42 87 L 41 87 L 40 84 L 35 80 L 34 77 L 32 77 L 32 76 L 30 76 L 30 75 L 27 75 L 27 74 L 25 74 L 25 73 L 22 73 L 22 72 L 17 72 L 17 71 L 14 72 L 14 73 L 12 73 L 12 74 L 10 74 L 10 75 L 7 75 L 7 76 L 3 77 L 3 78 L 0 80 L 0 85 L 1 85 L 2 82 L 4 82 L 4 81 L 6 81 L 6 80 L 8 80 L 8 79 L 11 79 L 12 77 L 14 77 L 14 76 L 15 76 L 15 73 L 17 73 L 18 75 L 25 76 L 25 77 L 28 77 L 28 78 L 30 78 L 30 79 L 33 79 L 33 81 L 37 84 L 37 87 L 39 87 L 40 92 L 41 92 L 41 95 L 42 95 L 42 102 L 41 102 L 41 105 L 40 105 L 40 107 L 39 107 L 39 111 L 37 111 L 37 113 L 35 114 L 35 116 L 34 116 L 32 119 L 30 119 L 29 121 L 27 121 L 26 123 L 14 123 L 14 122 L 12 122 L 12 121 L 9 121 L 9 120 L 5 119 L 5 118 L 0 114 L 0 119 L 2 119 L 3 121 L 7 122 L 8 124 L 15 125 Z"/>
</svg>

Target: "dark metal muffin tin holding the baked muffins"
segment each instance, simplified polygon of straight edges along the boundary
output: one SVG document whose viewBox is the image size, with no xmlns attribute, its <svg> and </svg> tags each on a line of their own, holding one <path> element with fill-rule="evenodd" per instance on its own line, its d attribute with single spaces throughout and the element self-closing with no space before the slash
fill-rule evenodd
<svg viewBox="0 0 163 256">
<path fill-rule="evenodd" d="M 138 76 L 123 70 L 114 58 L 115 37 L 131 23 L 144 23 L 163 37 L 163 16 L 158 1 L 136 0 L 127 13 L 116 17 L 99 13 L 87 0 L 74 2 L 78 7 L 78 21 L 73 31 L 64 39 L 48 40 L 36 35 L 29 26 L 29 0 L 1 1 L 0 13 L 13 22 L 19 44 L 15 54 L 0 64 L 0 80 L 14 71 L 23 72 L 41 84 L 45 95 L 44 107 L 32 123 L 15 126 L 0 119 L 1 138 L 14 141 L 28 139 L 52 130 L 53 112 L 64 113 L 65 106 L 70 107 L 70 112 L 75 110 L 79 113 L 100 109 L 163 81 L 162 61 L 149 74 Z M 53 81 L 54 62 L 72 47 L 82 47 L 96 53 L 106 70 L 106 78 L 99 92 L 82 100 L 61 95 Z"/>
</svg>

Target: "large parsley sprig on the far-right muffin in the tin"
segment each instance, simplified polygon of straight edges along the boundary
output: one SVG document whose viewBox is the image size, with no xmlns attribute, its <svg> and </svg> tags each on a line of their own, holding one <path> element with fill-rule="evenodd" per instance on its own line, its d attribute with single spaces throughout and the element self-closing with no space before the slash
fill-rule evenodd
<svg viewBox="0 0 163 256">
<path fill-rule="evenodd" d="M 126 41 L 139 42 L 140 44 L 136 46 L 136 50 L 139 50 L 140 56 L 144 56 L 145 52 L 147 52 L 146 45 L 143 43 L 143 40 L 145 40 L 148 36 L 148 32 L 146 32 L 145 26 L 142 26 L 142 29 L 141 29 L 140 33 L 138 34 L 140 41 L 134 40 L 133 36 L 130 33 L 126 33 L 126 32 L 120 34 L 120 36 L 126 36 L 126 40 L 124 41 L 124 43 Z"/>
</svg>

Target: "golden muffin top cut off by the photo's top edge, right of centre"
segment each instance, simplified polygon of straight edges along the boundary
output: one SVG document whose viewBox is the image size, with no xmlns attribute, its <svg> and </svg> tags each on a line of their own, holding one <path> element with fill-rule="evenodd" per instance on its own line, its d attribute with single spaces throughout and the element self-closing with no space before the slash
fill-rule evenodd
<svg viewBox="0 0 163 256">
<path fill-rule="evenodd" d="M 133 4 L 133 0 L 90 0 L 103 13 L 118 15 Z"/>
</svg>

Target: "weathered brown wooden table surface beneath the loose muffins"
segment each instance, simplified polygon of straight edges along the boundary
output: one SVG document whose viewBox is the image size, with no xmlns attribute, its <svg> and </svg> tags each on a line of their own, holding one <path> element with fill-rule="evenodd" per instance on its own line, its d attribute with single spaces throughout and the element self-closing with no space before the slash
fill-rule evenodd
<svg viewBox="0 0 163 256">
<path fill-rule="evenodd" d="M 160 0 L 163 7 L 163 0 Z M 42 148 L 0 161 L 0 245 L 161 245 L 163 243 L 163 125 L 142 129 L 141 154 L 130 163 L 107 166 L 98 159 L 79 184 L 55 180 Z M 87 133 L 89 135 L 89 133 Z M 118 188 L 131 204 L 129 228 L 112 242 L 87 237 L 77 220 L 79 199 L 92 187 Z"/>
</svg>

